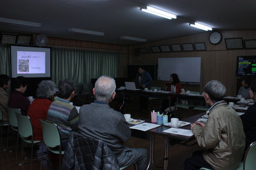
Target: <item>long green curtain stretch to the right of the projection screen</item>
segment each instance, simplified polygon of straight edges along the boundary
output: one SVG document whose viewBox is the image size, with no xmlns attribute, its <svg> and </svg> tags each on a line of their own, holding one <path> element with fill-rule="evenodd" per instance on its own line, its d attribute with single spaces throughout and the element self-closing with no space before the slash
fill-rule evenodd
<svg viewBox="0 0 256 170">
<path fill-rule="evenodd" d="M 90 83 L 101 75 L 118 76 L 119 53 L 77 49 L 52 49 L 52 79 L 70 78 Z"/>
</svg>

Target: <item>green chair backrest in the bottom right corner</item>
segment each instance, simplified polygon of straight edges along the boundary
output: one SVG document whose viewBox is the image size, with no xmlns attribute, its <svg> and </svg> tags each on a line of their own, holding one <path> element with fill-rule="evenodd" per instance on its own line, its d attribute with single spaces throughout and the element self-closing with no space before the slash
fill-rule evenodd
<svg viewBox="0 0 256 170">
<path fill-rule="evenodd" d="M 244 170 L 254 169 L 256 167 L 256 142 L 250 144 L 244 157 Z"/>
</svg>

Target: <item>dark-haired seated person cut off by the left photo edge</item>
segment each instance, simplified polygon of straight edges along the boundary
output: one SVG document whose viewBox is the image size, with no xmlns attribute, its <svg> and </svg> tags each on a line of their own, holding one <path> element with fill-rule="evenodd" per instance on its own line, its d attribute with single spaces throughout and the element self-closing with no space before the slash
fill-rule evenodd
<svg viewBox="0 0 256 170">
<path fill-rule="evenodd" d="M 7 105 L 9 100 L 9 95 L 6 93 L 6 89 L 10 86 L 10 77 L 5 74 L 0 75 L 0 109 L 3 114 L 3 121 L 8 121 L 9 116 L 7 112 Z"/>
</svg>

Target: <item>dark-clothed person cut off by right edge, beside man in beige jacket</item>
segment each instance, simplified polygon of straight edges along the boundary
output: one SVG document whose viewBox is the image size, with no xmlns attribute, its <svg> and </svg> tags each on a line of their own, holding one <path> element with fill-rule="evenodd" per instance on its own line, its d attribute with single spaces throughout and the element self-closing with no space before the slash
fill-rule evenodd
<svg viewBox="0 0 256 170">
<path fill-rule="evenodd" d="M 256 80 L 251 82 L 250 97 L 256 102 Z M 245 150 L 247 150 L 250 144 L 256 141 L 256 103 L 247 109 L 242 121 L 246 135 Z"/>
</svg>

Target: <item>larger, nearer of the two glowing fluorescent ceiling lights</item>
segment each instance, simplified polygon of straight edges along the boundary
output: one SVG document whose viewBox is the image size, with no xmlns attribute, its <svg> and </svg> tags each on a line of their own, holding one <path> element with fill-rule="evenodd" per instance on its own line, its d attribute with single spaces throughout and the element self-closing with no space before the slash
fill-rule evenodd
<svg viewBox="0 0 256 170">
<path fill-rule="evenodd" d="M 169 12 L 164 12 L 162 10 L 158 10 L 157 8 L 153 8 L 151 6 L 142 6 L 140 8 L 140 10 L 142 12 L 148 12 L 148 13 L 152 13 L 154 15 L 158 15 L 160 17 L 164 17 L 166 19 L 176 19 L 177 15 L 173 14 L 173 13 L 169 13 Z"/>
</svg>

